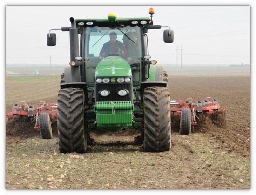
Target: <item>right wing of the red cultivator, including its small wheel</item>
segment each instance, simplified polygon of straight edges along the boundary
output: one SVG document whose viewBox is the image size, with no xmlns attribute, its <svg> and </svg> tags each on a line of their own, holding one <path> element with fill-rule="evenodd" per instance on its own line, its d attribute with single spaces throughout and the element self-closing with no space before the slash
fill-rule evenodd
<svg viewBox="0 0 256 195">
<path fill-rule="evenodd" d="M 180 134 L 190 134 L 191 125 L 196 125 L 196 119 L 199 114 L 222 114 L 225 118 L 226 110 L 220 108 L 217 99 L 206 97 L 203 101 L 196 101 L 196 105 L 192 102 L 192 98 L 187 101 L 178 100 L 171 101 L 171 114 L 180 115 Z"/>
</svg>

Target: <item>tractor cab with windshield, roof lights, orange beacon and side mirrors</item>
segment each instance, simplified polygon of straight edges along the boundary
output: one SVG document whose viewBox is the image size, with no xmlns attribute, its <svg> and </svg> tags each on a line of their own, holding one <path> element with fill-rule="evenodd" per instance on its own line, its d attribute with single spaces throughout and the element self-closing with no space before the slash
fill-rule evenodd
<svg viewBox="0 0 256 195">
<path fill-rule="evenodd" d="M 74 19 L 71 17 L 72 27 L 61 28 L 62 31 L 70 33 L 70 65 L 72 66 L 70 81 L 85 82 L 88 86 L 94 87 L 97 67 L 104 65 L 104 70 L 108 72 L 106 63 L 101 62 L 108 57 L 119 59 L 119 62 L 121 57 L 122 64 L 129 65 L 134 86 L 139 86 L 142 81 L 147 81 L 150 64 L 156 64 L 156 61 L 149 61 L 146 33 L 148 29 L 168 27 L 153 25 L 154 13 L 154 9 L 150 8 L 151 18 L 118 18 L 115 13 L 109 13 L 107 18 L 101 19 Z M 163 40 L 166 43 L 172 43 L 174 33 L 170 27 L 168 28 L 163 32 Z M 111 44 L 111 34 L 115 34 L 118 44 Z M 80 36 L 79 44 L 78 36 Z M 56 45 L 55 33 L 47 34 L 47 45 Z M 113 64 L 109 66 L 112 69 L 115 68 Z M 115 70 L 117 71 L 117 69 Z M 151 78 L 151 81 L 155 81 L 155 78 Z"/>
</svg>

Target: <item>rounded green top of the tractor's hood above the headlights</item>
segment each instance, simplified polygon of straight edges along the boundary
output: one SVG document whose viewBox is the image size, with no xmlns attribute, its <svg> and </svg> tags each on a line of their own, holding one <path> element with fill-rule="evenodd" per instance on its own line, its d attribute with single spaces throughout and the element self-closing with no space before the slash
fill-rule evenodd
<svg viewBox="0 0 256 195">
<path fill-rule="evenodd" d="M 95 76 L 132 76 L 132 71 L 128 62 L 120 56 L 108 56 L 96 67 Z"/>
</svg>

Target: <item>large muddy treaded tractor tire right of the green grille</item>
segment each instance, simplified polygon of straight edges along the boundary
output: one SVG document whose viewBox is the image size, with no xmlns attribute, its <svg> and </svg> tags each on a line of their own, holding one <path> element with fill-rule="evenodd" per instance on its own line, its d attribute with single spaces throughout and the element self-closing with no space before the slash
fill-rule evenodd
<svg viewBox="0 0 256 195">
<path fill-rule="evenodd" d="M 144 90 L 144 149 L 148 152 L 171 148 L 170 94 L 167 87 Z"/>
</svg>

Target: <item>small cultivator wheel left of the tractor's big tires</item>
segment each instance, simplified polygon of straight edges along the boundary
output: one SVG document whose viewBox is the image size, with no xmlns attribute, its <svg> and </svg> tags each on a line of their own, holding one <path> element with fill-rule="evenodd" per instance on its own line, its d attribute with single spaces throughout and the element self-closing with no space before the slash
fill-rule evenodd
<svg viewBox="0 0 256 195">
<path fill-rule="evenodd" d="M 39 114 L 39 128 L 40 128 L 40 135 L 42 139 L 53 138 L 51 120 L 48 113 Z"/>
</svg>

